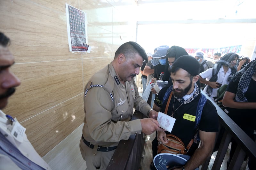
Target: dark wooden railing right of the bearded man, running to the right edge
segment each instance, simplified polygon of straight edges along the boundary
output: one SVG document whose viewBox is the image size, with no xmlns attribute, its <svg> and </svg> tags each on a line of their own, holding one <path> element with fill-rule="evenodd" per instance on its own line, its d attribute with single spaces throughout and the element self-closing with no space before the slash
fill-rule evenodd
<svg viewBox="0 0 256 170">
<path fill-rule="evenodd" d="M 208 97 L 208 99 L 210 98 Z M 237 147 L 228 166 L 228 170 L 240 169 L 246 155 L 256 158 L 256 144 L 220 107 L 218 107 L 218 105 L 214 102 L 212 103 L 217 109 L 220 127 L 222 126 L 224 128 L 224 135 L 213 163 L 212 170 L 220 169 L 232 138 L 236 141 Z M 208 158 L 205 161 L 201 168 L 202 170 L 206 170 L 208 168 L 210 159 L 211 158 Z"/>
</svg>

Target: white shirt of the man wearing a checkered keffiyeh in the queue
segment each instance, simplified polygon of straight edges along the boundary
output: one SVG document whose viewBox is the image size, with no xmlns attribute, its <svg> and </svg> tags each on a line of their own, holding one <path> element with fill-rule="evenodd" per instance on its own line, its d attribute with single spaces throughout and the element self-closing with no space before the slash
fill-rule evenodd
<svg viewBox="0 0 256 170">
<path fill-rule="evenodd" d="M 231 74 L 231 69 L 228 68 L 226 74 L 224 72 L 224 69 L 223 69 L 223 66 L 221 66 L 217 76 L 218 76 L 218 79 L 216 82 L 222 84 L 222 85 L 226 85 L 228 84 L 228 77 L 230 76 Z M 205 78 L 207 81 L 209 81 L 211 78 L 212 78 L 212 68 L 210 69 L 207 69 L 206 71 L 202 72 L 199 74 L 202 78 Z M 222 86 L 221 85 L 221 86 Z M 208 85 L 205 86 L 204 88 L 204 92 L 206 93 L 206 89 L 207 89 Z M 210 96 L 210 98 L 214 101 L 213 97 L 217 97 L 217 91 L 218 91 L 219 88 L 213 88 L 212 89 L 212 95 Z"/>
</svg>

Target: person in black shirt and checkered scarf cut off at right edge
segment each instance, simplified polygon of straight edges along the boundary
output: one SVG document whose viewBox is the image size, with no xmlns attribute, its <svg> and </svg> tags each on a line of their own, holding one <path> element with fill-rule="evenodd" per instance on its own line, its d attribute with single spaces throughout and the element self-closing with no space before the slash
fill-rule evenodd
<svg viewBox="0 0 256 170">
<path fill-rule="evenodd" d="M 256 120 L 256 61 L 253 60 L 238 71 L 230 80 L 222 99 L 227 115 L 244 132 L 255 139 Z M 232 141 L 228 162 L 236 150 L 236 143 Z M 249 169 L 256 169 L 256 159 L 249 157 Z"/>
</svg>

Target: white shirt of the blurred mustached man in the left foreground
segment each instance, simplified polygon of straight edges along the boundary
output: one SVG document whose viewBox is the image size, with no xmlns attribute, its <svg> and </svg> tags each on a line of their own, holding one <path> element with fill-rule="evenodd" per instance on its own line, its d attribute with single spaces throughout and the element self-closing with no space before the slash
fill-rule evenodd
<svg viewBox="0 0 256 170">
<path fill-rule="evenodd" d="M 23 135 L 23 142 L 17 141 L 15 137 L 11 135 L 11 131 L 7 129 L 7 125 L 10 125 L 10 121 L 6 118 L 4 112 L 0 110 L 0 132 L 6 136 L 19 151 L 32 162 L 43 167 L 44 169 L 51 170 L 50 166 L 44 161 L 44 159 L 36 152 L 32 144 L 28 141 L 27 135 Z M 9 157 L 0 154 L 0 169 L 20 169 Z"/>
</svg>

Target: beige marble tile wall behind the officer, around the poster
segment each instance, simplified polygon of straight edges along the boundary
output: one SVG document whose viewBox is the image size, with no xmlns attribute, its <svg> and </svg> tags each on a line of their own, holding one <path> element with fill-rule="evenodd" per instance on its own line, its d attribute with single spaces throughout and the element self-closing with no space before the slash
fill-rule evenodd
<svg viewBox="0 0 256 170">
<path fill-rule="evenodd" d="M 124 5 L 133 4 L 70 0 L 69 5 L 87 14 L 92 49 L 91 53 L 69 52 L 65 3 L 0 1 L 0 31 L 11 39 L 9 48 L 15 56 L 11 71 L 21 80 L 3 111 L 27 128 L 28 139 L 41 156 L 83 123 L 88 79 L 136 35 L 136 22 L 123 12 Z"/>
</svg>

